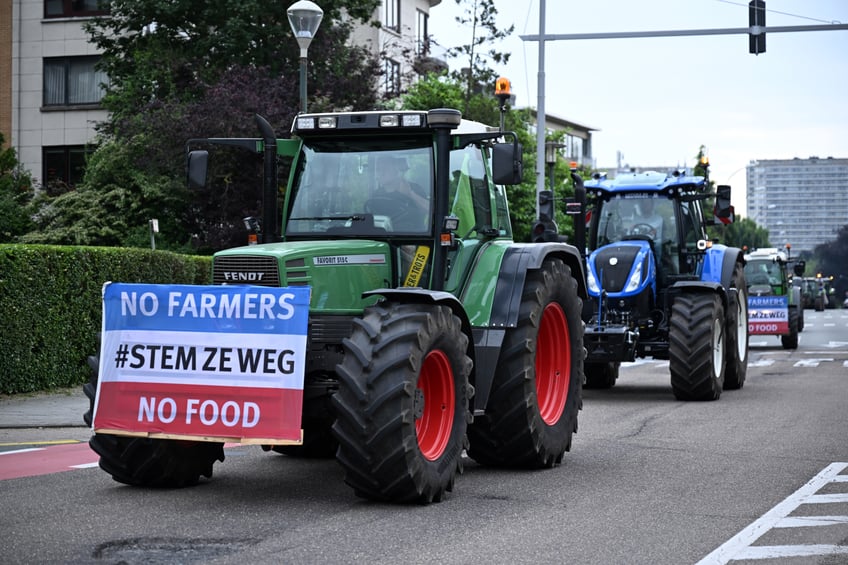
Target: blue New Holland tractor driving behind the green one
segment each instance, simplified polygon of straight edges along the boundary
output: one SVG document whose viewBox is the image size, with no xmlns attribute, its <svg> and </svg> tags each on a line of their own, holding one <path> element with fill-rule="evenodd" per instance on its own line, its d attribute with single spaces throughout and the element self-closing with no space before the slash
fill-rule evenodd
<svg viewBox="0 0 848 565">
<path fill-rule="evenodd" d="M 748 365 L 747 285 L 741 249 L 707 237 L 733 220 L 730 187 L 680 171 L 572 174 L 585 230 L 589 298 L 583 305 L 587 388 L 610 388 L 622 362 L 668 359 L 679 400 L 716 400 L 738 389 Z M 574 213 L 574 212 L 573 212 Z"/>
</svg>

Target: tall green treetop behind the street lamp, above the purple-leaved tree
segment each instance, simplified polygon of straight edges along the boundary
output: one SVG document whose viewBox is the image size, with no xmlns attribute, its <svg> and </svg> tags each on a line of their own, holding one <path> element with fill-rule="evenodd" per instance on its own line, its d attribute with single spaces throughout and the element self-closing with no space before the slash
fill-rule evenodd
<svg viewBox="0 0 848 565">
<path fill-rule="evenodd" d="M 365 55 L 346 42 L 352 21 L 366 22 L 380 0 L 321 5 L 324 25 L 310 46 L 313 93 L 328 75 L 358 74 L 362 65 L 347 66 L 351 59 L 338 55 Z M 113 120 L 121 120 L 153 100 L 196 100 L 233 66 L 266 68 L 271 76 L 287 76 L 295 84 L 299 48 L 287 8 L 288 3 L 260 0 L 111 0 L 109 14 L 85 26 L 109 76 L 103 104 Z"/>
</svg>

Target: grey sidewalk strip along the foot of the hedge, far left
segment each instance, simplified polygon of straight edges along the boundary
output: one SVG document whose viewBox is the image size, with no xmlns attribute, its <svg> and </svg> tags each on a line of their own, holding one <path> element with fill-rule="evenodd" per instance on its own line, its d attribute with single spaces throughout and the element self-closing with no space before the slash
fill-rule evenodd
<svg viewBox="0 0 848 565">
<path fill-rule="evenodd" d="M 0 396 L 0 428 L 82 428 L 88 398 L 82 386 L 39 394 Z"/>
</svg>

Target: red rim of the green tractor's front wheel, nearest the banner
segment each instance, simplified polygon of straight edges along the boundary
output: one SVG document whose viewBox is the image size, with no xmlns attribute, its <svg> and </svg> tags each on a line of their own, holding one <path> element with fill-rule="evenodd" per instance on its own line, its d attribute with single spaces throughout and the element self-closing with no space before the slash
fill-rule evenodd
<svg viewBox="0 0 848 565">
<path fill-rule="evenodd" d="M 431 351 L 424 358 L 418 390 L 424 401 L 421 416 L 415 420 L 418 448 L 425 459 L 435 461 L 448 446 L 456 410 L 453 370 L 442 351 Z"/>
</svg>

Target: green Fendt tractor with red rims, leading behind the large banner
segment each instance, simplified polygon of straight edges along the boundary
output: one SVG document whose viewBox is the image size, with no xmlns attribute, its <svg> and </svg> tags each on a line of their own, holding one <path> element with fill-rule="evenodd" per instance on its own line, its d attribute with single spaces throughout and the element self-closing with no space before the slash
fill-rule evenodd
<svg viewBox="0 0 848 565">
<path fill-rule="evenodd" d="M 335 456 L 357 495 L 392 502 L 441 500 L 466 452 L 560 464 L 582 407 L 585 279 L 575 247 L 513 241 L 515 134 L 452 109 L 300 114 L 290 139 L 257 123 L 261 138 L 192 140 L 188 176 L 206 182 L 213 146 L 262 155 L 261 243 L 215 254 L 214 284 L 311 289 L 302 442 L 263 447 Z M 280 157 L 292 165 L 278 234 Z M 191 485 L 224 459 L 214 438 L 95 430 L 90 444 L 140 486 Z"/>
</svg>

